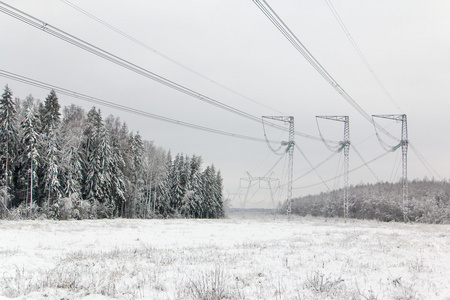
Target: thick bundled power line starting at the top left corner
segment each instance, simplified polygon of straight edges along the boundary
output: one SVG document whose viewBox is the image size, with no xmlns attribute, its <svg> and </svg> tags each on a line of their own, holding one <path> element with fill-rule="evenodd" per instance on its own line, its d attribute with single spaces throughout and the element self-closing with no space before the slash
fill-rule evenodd
<svg viewBox="0 0 450 300">
<path fill-rule="evenodd" d="M 41 29 L 42 31 L 44 31 L 44 32 L 46 32 L 46 33 L 48 33 L 50 35 L 53 35 L 54 37 L 57 37 L 57 38 L 65 41 L 65 42 L 67 42 L 69 44 L 72 44 L 72 45 L 74 45 L 74 46 L 76 46 L 76 47 L 78 47 L 80 49 L 86 50 L 86 51 L 88 51 L 88 52 L 90 52 L 90 53 L 92 53 L 94 55 L 97 55 L 97 56 L 99 56 L 99 57 L 101 57 L 103 59 L 106 59 L 106 60 L 108 60 L 108 61 L 110 61 L 112 63 L 115 63 L 115 64 L 117 64 L 117 65 L 119 65 L 119 66 L 121 66 L 123 68 L 126 68 L 126 69 L 128 69 L 130 71 L 133 71 L 133 72 L 139 74 L 139 75 L 142 75 L 142 76 L 147 77 L 147 78 L 149 78 L 151 80 L 154 80 L 154 81 L 156 81 L 156 82 L 158 82 L 160 84 L 163 84 L 163 85 L 165 85 L 165 86 L 167 86 L 169 88 L 172 88 L 174 90 L 182 92 L 182 93 L 184 93 L 184 94 L 186 94 L 188 96 L 191 96 L 193 98 L 199 99 L 199 100 L 201 100 L 201 101 L 203 101 L 205 103 L 208 103 L 210 105 L 216 106 L 216 107 L 221 108 L 221 109 L 224 109 L 224 110 L 226 110 L 228 112 L 234 113 L 234 114 L 239 115 L 239 116 L 244 117 L 244 118 L 247 118 L 247 119 L 249 119 L 251 121 L 255 121 L 255 122 L 258 122 L 258 123 L 260 122 L 260 118 L 259 117 L 253 116 L 253 115 L 251 115 L 249 113 L 246 113 L 246 112 L 244 112 L 242 110 L 234 108 L 234 107 L 232 107 L 230 105 L 227 105 L 227 104 L 224 104 L 224 103 L 219 102 L 217 100 L 214 100 L 214 99 L 212 99 L 212 98 L 210 98 L 208 96 L 205 96 L 205 95 L 203 95 L 201 93 L 198 93 L 198 92 L 196 92 L 194 90 L 191 90 L 191 89 L 189 89 L 189 88 L 187 88 L 187 87 L 185 87 L 183 85 L 180 85 L 180 84 L 178 84 L 178 83 L 176 83 L 174 81 L 171 81 L 171 80 L 169 80 L 169 79 L 167 79 L 167 78 L 165 78 L 163 76 L 157 75 L 157 74 L 155 74 L 155 73 L 153 73 L 153 72 L 151 72 L 149 70 L 146 70 L 146 69 L 144 69 L 144 68 L 142 68 L 142 67 L 140 67 L 140 66 L 138 66 L 136 64 L 133 64 L 133 63 L 131 63 L 131 62 L 125 60 L 125 59 L 122 59 L 122 58 L 120 58 L 120 57 L 118 57 L 118 56 L 116 56 L 116 55 L 114 55 L 114 54 L 112 54 L 110 52 L 107 52 L 107 51 L 105 51 L 105 50 L 103 50 L 103 49 L 101 49 L 101 48 L 99 48 L 97 46 L 94 46 L 94 45 L 92 45 L 92 44 L 90 44 L 90 43 L 88 43 L 88 42 L 86 42 L 86 41 L 84 41 L 84 40 L 82 40 L 80 38 L 77 38 L 77 37 L 75 37 L 75 36 L 65 32 L 63 30 L 60 30 L 60 29 L 58 29 L 58 28 L 56 28 L 56 27 L 54 27 L 54 26 L 52 26 L 52 25 L 50 25 L 50 24 L 48 24 L 48 23 L 46 23 L 46 22 L 44 22 L 44 21 L 42 21 L 42 20 L 40 20 L 38 18 L 35 18 L 35 17 L 33 17 L 33 16 L 31 16 L 31 15 L 29 15 L 29 14 L 27 14 L 27 13 L 25 13 L 25 12 L 23 12 L 23 11 L 17 9 L 17 8 L 14 8 L 14 7 L 12 7 L 12 6 L 10 6 L 10 5 L 2 2 L 2 1 L 0 1 L 0 4 L 10 8 L 10 9 L 8 9 L 8 8 L 5 8 L 5 7 L 0 7 L 0 11 L 1 12 L 5 13 L 5 14 L 7 14 L 7 15 L 9 15 L 9 16 L 11 16 L 11 17 L 13 17 L 13 18 L 15 18 L 15 19 L 17 19 L 19 21 L 22 21 L 22 22 L 24 22 L 24 23 L 26 23 L 26 24 L 28 24 L 28 25 L 30 25 L 32 27 L 35 27 L 37 29 Z M 281 125 L 270 123 L 270 122 L 267 122 L 267 124 L 270 125 L 271 127 L 274 127 L 274 128 L 286 131 L 286 128 L 281 126 Z M 305 138 L 312 139 L 312 140 L 322 141 L 319 137 L 315 137 L 315 136 L 312 136 L 312 135 L 309 135 L 309 134 L 305 134 L 305 133 L 301 133 L 301 132 L 297 132 L 297 131 L 295 132 L 295 134 L 299 135 L 299 136 L 302 136 L 302 137 L 305 137 Z"/>
</svg>

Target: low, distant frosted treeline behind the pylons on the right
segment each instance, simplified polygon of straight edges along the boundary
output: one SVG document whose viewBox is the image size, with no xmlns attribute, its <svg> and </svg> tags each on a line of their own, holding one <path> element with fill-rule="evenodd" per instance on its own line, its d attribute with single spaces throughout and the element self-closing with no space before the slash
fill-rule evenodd
<svg viewBox="0 0 450 300">
<path fill-rule="evenodd" d="M 408 183 L 408 218 L 412 222 L 450 223 L 450 183 L 414 180 Z M 349 217 L 403 221 L 402 183 L 351 186 Z M 301 216 L 343 217 L 343 191 L 293 199 L 292 212 Z"/>
</svg>

